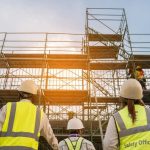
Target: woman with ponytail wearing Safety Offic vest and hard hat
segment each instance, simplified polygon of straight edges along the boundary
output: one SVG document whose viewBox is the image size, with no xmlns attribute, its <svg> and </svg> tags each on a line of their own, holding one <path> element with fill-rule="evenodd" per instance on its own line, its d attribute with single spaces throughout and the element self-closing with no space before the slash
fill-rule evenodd
<svg viewBox="0 0 150 150">
<path fill-rule="evenodd" d="M 141 100 L 143 89 L 136 79 L 124 82 L 120 90 L 123 109 L 109 120 L 104 150 L 149 150 L 150 109 Z"/>
</svg>

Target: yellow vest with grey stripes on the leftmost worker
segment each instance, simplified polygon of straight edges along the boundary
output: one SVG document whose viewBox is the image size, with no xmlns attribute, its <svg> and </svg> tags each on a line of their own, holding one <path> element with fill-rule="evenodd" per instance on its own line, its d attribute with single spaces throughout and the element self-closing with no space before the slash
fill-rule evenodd
<svg viewBox="0 0 150 150">
<path fill-rule="evenodd" d="M 42 111 L 30 102 L 7 103 L 0 149 L 37 150 Z"/>
</svg>

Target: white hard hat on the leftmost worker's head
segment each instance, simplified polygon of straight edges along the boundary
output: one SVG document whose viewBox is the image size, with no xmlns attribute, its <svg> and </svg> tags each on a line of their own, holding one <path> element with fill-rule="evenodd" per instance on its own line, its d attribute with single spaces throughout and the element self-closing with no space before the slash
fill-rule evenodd
<svg viewBox="0 0 150 150">
<path fill-rule="evenodd" d="M 38 87 L 36 86 L 34 81 L 26 80 L 26 81 L 22 82 L 18 91 L 26 92 L 26 93 L 30 93 L 30 94 L 37 94 Z"/>
</svg>

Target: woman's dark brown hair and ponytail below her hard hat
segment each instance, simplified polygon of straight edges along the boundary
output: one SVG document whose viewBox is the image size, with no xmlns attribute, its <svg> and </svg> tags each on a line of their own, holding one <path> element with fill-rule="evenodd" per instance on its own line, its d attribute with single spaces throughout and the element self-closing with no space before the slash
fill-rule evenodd
<svg viewBox="0 0 150 150">
<path fill-rule="evenodd" d="M 121 101 L 122 101 L 123 107 L 128 106 L 128 112 L 131 116 L 132 123 L 134 123 L 136 121 L 135 104 L 144 106 L 144 103 L 140 100 L 126 99 L 122 97 L 121 97 Z"/>
</svg>

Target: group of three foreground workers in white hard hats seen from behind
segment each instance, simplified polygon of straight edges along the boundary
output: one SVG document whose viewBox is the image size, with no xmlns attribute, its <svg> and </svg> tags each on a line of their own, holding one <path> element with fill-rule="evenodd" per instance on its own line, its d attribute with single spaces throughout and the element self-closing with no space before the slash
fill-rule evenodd
<svg viewBox="0 0 150 150">
<path fill-rule="evenodd" d="M 82 137 L 83 123 L 73 117 L 68 121 L 69 137 L 58 143 L 46 114 L 32 104 L 38 88 L 32 80 L 18 89 L 19 102 L 9 102 L 0 111 L 0 149 L 37 150 L 39 136 L 44 136 L 54 150 L 95 150 Z M 103 141 L 104 150 L 149 150 L 150 109 L 142 101 L 143 89 L 136 79 L 121 86 L 122 109 L 109 119 Z"/>
</svg>

